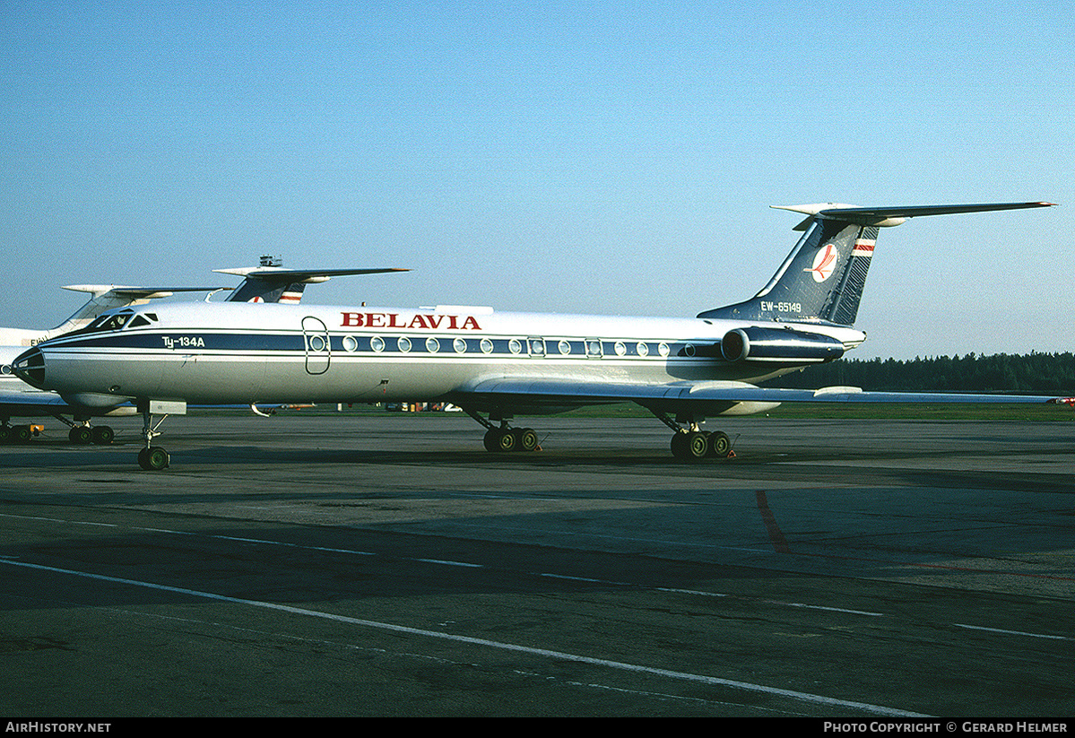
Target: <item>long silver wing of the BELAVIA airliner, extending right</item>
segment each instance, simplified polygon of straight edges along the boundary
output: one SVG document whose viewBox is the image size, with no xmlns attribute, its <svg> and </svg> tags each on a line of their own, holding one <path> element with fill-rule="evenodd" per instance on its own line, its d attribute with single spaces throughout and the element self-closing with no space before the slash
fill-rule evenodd
<svg viewBox="0 0 1075 738">
<path fill-rule="evenodd" d="M 1072 398 L 1043 395 L 980 395 L 960 393 L 864 392 L 859 387 L 786 389 L 743 382 L 673 382 L 634 384 L 577 382 L 557 379 L 494 379 L 455 393 L 453 401 L 479 407 L 584 406 L 636 402 L 663 412 L 687 410 L 721 413 L 741 403 L 779 402 L 937 402 L 937 403 L 1071 403 Z M 756 410 L 754 410 L 756 411 Z M 748 407 L 743 412 L 752 412 Z M 734 411 L 732 410 L 732 413 Z"/>
</svg>

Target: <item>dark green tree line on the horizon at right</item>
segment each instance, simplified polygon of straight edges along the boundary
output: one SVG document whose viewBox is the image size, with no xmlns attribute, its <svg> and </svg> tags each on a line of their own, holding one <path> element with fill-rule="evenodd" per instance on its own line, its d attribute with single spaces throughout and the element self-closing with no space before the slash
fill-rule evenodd
<svg viewBox="0 0 1075 738">
<path fill-rule="evenodd" d="M 878 392 L 1017 392 L 1075 395 L 1075 355 L 993 354 L 844 358 L 807 367 L 765 383 L 773 387 L 816 389 L 845 385 Z"/>
</svg>

